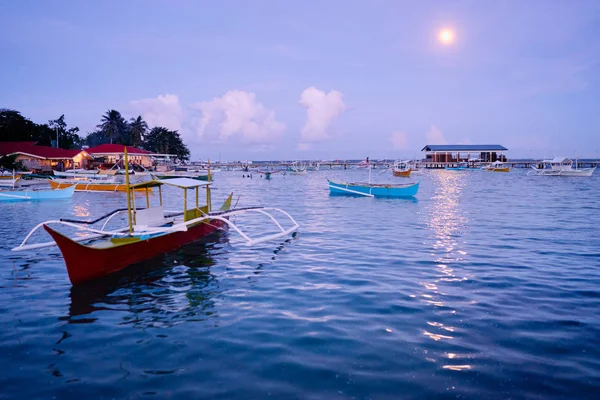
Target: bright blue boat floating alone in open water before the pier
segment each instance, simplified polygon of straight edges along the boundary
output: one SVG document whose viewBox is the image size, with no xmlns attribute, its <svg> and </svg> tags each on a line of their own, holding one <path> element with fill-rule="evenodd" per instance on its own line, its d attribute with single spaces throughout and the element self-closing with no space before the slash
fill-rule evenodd
<svg viewBox="0 0 600 400">
<path fill-rule="evenodd" d="M 413 197 L 419 190 L 419 182 L 411 183 L 368 183 L 368 182 L 329 182 L 330 194 L 344 194 L 366 197 Z"/>
</svg>

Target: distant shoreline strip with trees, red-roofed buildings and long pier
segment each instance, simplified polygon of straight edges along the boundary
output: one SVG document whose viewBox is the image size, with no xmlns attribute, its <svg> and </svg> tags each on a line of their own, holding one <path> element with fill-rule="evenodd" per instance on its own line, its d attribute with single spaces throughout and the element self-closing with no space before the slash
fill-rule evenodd
<svg viewBox="0 0 600 400">
<path fill-rule="evenodd" d="M 123 146 L 128 146 L 129 163 L 135 174 L 160 172 L 177 176 L 201 170 L 208 160 L 190 160 L 190 151 L 177 131 L 165 127 L 152 127 L 141 116 L 129 121 L 116 110 L 108 110 L 97 130 L 87 136 L 78 134 L 79 128 L 67 126 L 64 115 L 47 124 L 36 124 L 18 111 L 0 109 L 0 168 L 2 175 L 29 173 L 53 176 L 55 172 L 108 170 L 121 173 Z M 507 168 L 594 168 L 598 160 L 572 160 L 566 157 L 542 159 L 507 158 L 508 149 L 499 144 L 426 144 L 423 156 L 414 160 L 371 159 L 374 169 L 494 169 Z M 403 166 L 400 164 L 403 163 Z M 259 172 L 280 170 L 301 172 L 304 169 L 355 169 L 364 168 L 363 160 L 272 160 L 272 161 L 221 161 L 212 160 L 213 170 L 239 170 Z M 406 165 L 404 165 L 406 164 Z M 501 165 L 500 165 L 501 164 Z M 544 165 L 546 164 L 546 165 Z M 573 165 L 574 164 L 574 165 Z M 560 167 L 563 165 L 563 167 Z M 501 167 L 501 168 L 500 168 Z M 189 170 L 189 171 L 188 171 Z M 89 175 L 89 174 L 86 174 Z"/>
</svg>

